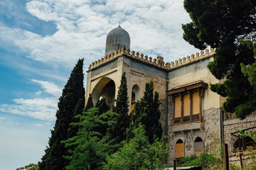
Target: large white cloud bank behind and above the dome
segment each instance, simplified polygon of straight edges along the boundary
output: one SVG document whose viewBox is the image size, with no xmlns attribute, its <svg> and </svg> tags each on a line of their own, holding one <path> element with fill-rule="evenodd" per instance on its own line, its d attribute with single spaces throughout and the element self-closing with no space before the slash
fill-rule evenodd
<svg viewBox="0 0 256 170">
<path fill-rule="evenodd" d="M 78 58 L 85 57 L 87 68 L 104 57 L 107 33 L 119 21 L 129 32 L 131 50 L 144 55 L 161 55 L 165 62 L 171 62 L 198 51 L 182 39 L 181 23 L 188 23 L 190 18 L 179 0 L 109 0 L 93 4 L 82 0 L 32 0 L 26 9 L 43 21 L 53 21 L 56 33 L 42 37 L 25 30 L 1 28 L 0 37 L 14 40 L 28 57 L 39 62 L 71 67 Z"/>
</svg>

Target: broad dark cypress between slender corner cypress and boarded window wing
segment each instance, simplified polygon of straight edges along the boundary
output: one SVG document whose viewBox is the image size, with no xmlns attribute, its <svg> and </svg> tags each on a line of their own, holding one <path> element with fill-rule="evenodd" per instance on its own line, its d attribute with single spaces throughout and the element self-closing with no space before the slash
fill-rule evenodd
<svg viewBox="0 0 256 170">
<path fill-rule="evenodd" d="M 135 103 L 132 113 L 132 124 L 130 130 L 137 128 L 142 123 L 145 126 L 146 136 L 149 137 L 149 143 L 154 142 L 154 138 L 160 140 L 162 135 L 161 123 L 159 122 L 161 112 L 159 111 L 159 93 L 154 91 L 153 81 L 146 83 L 144 96 Z"/>
</svg>

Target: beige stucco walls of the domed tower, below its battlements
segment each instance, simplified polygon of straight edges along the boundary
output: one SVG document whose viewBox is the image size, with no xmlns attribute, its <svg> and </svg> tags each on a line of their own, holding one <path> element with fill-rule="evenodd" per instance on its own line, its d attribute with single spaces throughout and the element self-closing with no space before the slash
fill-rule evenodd
<svg viewBox="0 0 256 170">
<path fill-rule="evenodd" d="M 117 60 L 112 61 L 117 62 L 116 64 L 105 64 L 102 67 L 92 69 L 91 71 L 87 72 L 87 89 L 86 89 L 86 97 L 85 97 L 85 103 L 87 103 L 87 98 L 89 97 L 89 94 L 92 94 L 93 89 L 95 89 L 95 86 L 98 86 L 98 84 L 104 83 L 102 80 L 103 78 L 107 77 L 109 79 L 112 79 L 115 84 L 115 98 L 117 98 L 117 91 L 118 87 L 120 85 L 120 81 L 122 78 L 123 72 L 126 73 L 127 77 L 127 87 L 128 87 L 128 97 L 129 97 L 129 109 L 131 109 L 131 98 L 132 98 L 132 87 L 137 84 L 139 86 L 139 92 L 137 93 L 136 98 L 142 98 L 144 96 L 145 91 L 145 84 L 146 82 L 153 80 L 154 82 L 154 91 L 159 92 L 159 99 L 162 100 L 166 98 L 166 73 L 164 73 L 163 70 L 156 69 L 159 74 L 161 74 L 161 77 L 154 74 L 155 72 L 150 72 L 148 64 L 144 63 L 136 63 L 134 60 L 128 58 L 128 57 L 118 57 Z M 110 65 L 110 66 L 109 66 Z M 113 66 L 114 65 L 114 66 Z M 134 66 L 135 65 L 135 66 Z M 101 69 L 101 70 L 100 70 Z M 147 70 L 147 72 L 146 72 Z M 97 98 L 93 98 L 93 101 L 97 101 Z"/>
</svg>

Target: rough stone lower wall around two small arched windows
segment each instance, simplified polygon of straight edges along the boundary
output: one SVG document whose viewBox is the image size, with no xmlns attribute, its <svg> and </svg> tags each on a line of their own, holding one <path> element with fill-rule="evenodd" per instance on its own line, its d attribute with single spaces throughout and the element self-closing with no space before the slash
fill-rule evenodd
<svg viewBox="0 0 256 170">
<path fill-rule="evenodd" d="M 185 157 L 194 154 L 194 141 L 196 137 L 200 137 L 203 140 L 204 152 L 216 153 L 220 151 L 220 108 L 210 108 L 203 111 L 201 123 L 191 122 L 179 125 L 173 125 L 171 108 L 172 106 L 169 104 L 170 162 L 175 158 L 175 144 L 178 139 L 183 140 L 185 143 Z"/>
</svg>

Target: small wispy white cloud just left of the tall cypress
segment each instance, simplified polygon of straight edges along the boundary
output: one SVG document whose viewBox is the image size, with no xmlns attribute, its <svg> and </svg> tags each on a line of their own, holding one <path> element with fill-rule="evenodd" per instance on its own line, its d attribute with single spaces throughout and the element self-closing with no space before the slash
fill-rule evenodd
<svg viewBox="0 0 256 170">
<path fill-rule="evenodd" d="M 61 95 L 62 89 L 60 89 L 57 85 L 53 83 L 50 83 L 48 81 L 36 80 L 36 79 L 32 79 L 31 81 L 40 84 L 41 88 L 44 89 L 43 91 L 45 91 L 48 94 L 52 94 L 55 97 L 59 97 Z M 38 92 L 40 93 L 40 91 Z"/>
</svg>

